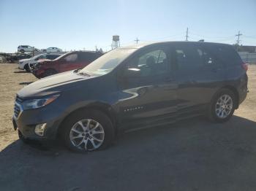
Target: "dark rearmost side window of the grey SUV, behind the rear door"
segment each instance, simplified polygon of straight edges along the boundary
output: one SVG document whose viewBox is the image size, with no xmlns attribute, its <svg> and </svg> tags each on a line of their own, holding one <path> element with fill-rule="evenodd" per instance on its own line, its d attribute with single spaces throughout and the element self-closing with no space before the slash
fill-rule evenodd
<svg viewBox="0 0 256 191">
<path fill-rule="evenodd" d="M 241 64 L 241 58 L 236 52 L 236 50 L 228 45 L 219 44 L 208 44 L 206 50 L 211 52 L 216 58 L 218 58 L 222 63 L 227 65 L 237 65 Z"/>
</svg>

